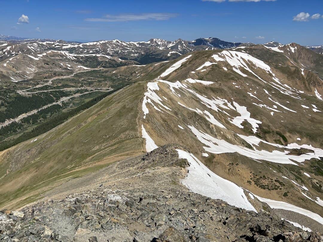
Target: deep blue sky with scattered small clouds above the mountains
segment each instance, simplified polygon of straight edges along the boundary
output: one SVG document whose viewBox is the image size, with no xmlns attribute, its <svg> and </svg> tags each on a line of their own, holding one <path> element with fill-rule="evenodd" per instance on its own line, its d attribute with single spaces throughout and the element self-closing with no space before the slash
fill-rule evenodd
<svg viewBox="0 0 323 242">
<path fill-rule="evenodd" d="M 322 0 L 0 0 L 0 6 L 5 35 L 82 42 L 212 36 L 323 45 Z"/>
</svg>

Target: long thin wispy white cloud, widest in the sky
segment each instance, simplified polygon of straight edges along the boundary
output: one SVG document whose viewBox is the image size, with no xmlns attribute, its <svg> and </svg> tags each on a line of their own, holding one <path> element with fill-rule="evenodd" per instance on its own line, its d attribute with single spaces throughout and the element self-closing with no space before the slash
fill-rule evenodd
<svg viewBox="0 0 323 242">
<path fill-rule="evenodd" d="M 105 15 L 104 18 L 87 18 L 85 19 L 85 21 L 125 22 L 125 21 L 137 21 L 137 20 L 168 20 L 176 16 L 177 14 L 170 14 L 170 13 L 120 14 L 120 15 Z"/>
</svg>

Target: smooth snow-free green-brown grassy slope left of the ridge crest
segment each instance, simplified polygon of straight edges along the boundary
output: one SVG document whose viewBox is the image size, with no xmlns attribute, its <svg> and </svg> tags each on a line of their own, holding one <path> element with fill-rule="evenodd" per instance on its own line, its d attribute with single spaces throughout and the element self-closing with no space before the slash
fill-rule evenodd
<svg viewBox="0 0 323 242">
<path fill-rule="evenodd" d="M 0 207 L 24 204 L 16 198 L 141 154 L 137 117 L 143 87 L 125 87 L 53 130 L 3 151 Z"/>
</svg>

